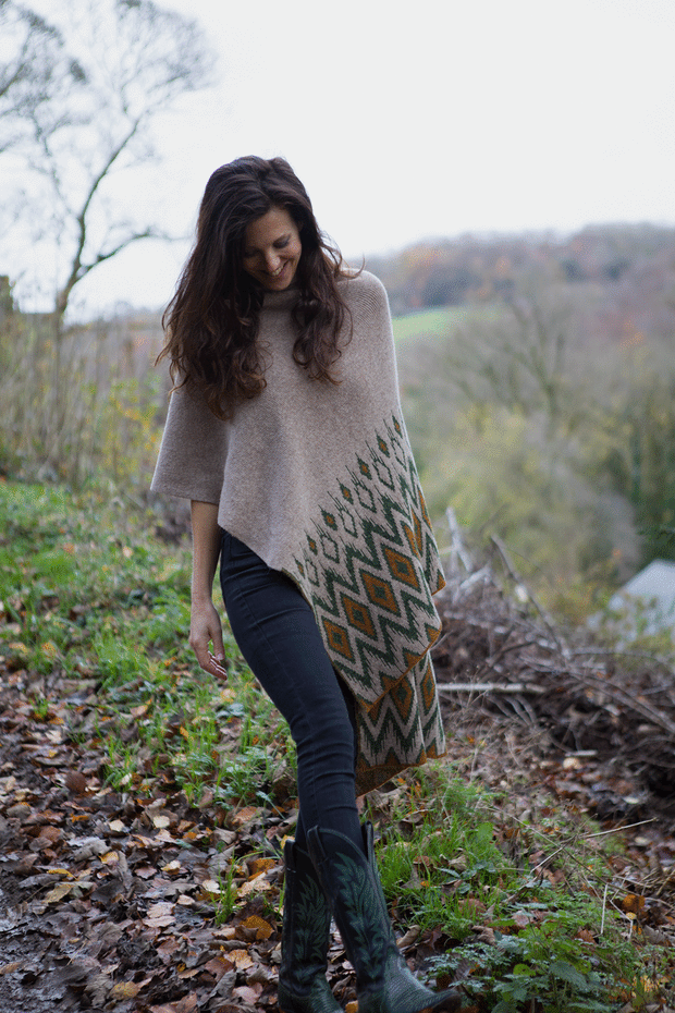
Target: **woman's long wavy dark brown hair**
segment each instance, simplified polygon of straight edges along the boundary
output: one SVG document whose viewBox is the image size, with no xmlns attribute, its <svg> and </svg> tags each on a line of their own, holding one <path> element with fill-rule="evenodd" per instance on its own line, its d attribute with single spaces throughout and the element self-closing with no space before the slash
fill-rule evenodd
<svg viewBox="0 0 675 1013">
<path fill-rule="evenodd" d="M 174 390 L 204 394 L 219 418 L 266 386 L 256 341 L 265 291 L 244 271 L 246 227 L 271 208 L 286 210 L 300 234 L 294 284 L 295 362 L 316 380 L 336 382 L 331 366 L 348 314 L 338 291 L 346 273 L 340 251 L 319 230 L 307 192 L 283 158 L 237 158 L 206 185 L 193 251 L 162 317 L 167 333 L 158 356 L 168 357 Z"/>
</svg>

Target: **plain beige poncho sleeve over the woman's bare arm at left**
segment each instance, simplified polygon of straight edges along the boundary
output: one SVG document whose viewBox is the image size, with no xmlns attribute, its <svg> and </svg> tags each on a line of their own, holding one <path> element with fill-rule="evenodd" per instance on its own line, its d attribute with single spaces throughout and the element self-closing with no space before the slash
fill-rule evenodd
<svg viewBox="0 0 675 1013">
<path fill-rule="evenodd" d="M 185 387 L 174 391 L 152 490 L 204 503 L 220 502 L 228 432 L 229 424 L 217 418 L 198 393 Z"/>
</svg>

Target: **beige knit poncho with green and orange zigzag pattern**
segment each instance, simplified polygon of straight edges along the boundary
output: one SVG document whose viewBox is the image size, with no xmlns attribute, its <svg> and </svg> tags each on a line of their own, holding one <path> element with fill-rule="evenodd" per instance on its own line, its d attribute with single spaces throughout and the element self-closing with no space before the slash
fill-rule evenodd
<svg viewBox="0 0 675 1013">
<path fill-rule="evenodd" d="M 358 716 L 365 792 L 445 749 L 429 648 L 440 560 L 408 443 L 386 293 L 364 271 L 340 282 L 352 340 L 338 385 L 293 359 L 295 290 L 260 312 L 267 387 L 221 422 L 173 393 L 152 489 L 218 504 L 219 524 L 311 605 Z M 348 334 L 348 320 L 345 335 Z"/>
</svg>

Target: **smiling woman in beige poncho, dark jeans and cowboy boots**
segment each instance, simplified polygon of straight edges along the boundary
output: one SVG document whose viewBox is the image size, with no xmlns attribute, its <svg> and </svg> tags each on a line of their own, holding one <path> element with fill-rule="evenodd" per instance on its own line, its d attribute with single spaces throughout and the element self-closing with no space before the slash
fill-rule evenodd
<svg viewBox="0 0 675 1013">
<path fill-rule="evenodd" d="M 164 324 L 175 387 L 152 487 L 192 501 L 191 645 L 226 678 L 220 560 L 234 637 L 297 748 L 280 1008 L 340 1010 L 332 912 L 360 1013 L 455 1009 L 400 954 L 356 808 L 444 750 L 428 657 L 443 578 L 384 290 L 343 267 L 287 162 L 241 158 L 207 184 Z"/>
</svg>

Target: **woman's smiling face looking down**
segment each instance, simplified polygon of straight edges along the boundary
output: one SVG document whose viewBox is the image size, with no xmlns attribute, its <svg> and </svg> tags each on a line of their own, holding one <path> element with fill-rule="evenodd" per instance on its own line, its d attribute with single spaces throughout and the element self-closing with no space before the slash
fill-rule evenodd
<svg viewBox="0 0 675 1013">
<path fill-rule="evenodd" d="M 247 274 L 271 292 L 282 292 L 295 278 L 303 244 L 285 208 L 270 208 L 246 227 L 242 264 Z"/>
</svg>

